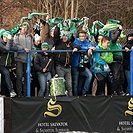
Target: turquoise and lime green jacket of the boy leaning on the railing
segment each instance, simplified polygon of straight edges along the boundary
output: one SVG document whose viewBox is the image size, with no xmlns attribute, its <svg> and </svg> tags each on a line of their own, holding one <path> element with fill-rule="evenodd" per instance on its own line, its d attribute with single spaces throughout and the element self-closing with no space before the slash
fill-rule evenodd
<svg viewBox="0 0 133 133">
<path fill-rule="evenodd" d="M 110 48 L 104 48 L 102 43 L 99 42 L 96 46 L 96 50 L 110 50 Z M 93 64 L 92 72 L 93 74 L 101 73 L 106 77 L 109 71 L 105 71 L 104 66 L 113 62 L 112 52 L 93 52 Z"/>
</svg>

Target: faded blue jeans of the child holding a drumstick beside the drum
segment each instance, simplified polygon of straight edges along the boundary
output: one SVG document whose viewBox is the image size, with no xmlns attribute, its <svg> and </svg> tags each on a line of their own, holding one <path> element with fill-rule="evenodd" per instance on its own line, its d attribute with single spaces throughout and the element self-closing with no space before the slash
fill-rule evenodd
<svg viewBox="0 0 133 133">
<path fill-rule="evenodd" d="M 51 73 L 50 72 L 46 72 L 46 73 L 41 73 L 38 74 L 38 80 L 39 80 L 39 84 L 40 84 L 40 90 L 38 93 L 38 96 L 48 96 L 49 92 L 48 92 L 48 88 L 47 88 L 47 81 L 51 79 Z"/>
</svg>

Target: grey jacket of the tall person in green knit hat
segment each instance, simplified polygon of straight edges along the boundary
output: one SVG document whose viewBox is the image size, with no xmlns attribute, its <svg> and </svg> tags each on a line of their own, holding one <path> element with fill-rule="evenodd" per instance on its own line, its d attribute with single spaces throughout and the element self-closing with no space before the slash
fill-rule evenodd
<svg viewBox="0 0 133 133">
<path fill-rule="evenodd" d="M 14 47 L 17 47 L 17 50 L 24 50 L 24 48 L 28 48 L 30 50 L 33 49 L 33 39 L 30 34 L 21 34 L 18 33 L 14 36 L 14 43 L 17 44 Z M 32 54 L 31 53 L 31 60 L 32 60 Z M 20 61 L 23 63 L 27 62 L 27 54 L 25 52 L 17 52 L 15 53 L 15 61 Z"/>
</svg>

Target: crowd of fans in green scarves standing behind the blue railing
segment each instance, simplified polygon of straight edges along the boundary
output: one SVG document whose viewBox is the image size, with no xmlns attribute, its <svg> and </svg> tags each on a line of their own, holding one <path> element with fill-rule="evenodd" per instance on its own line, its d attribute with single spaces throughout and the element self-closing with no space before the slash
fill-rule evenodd
<svg viewBox="0 0 133 133">
<path fill-rule="evenodd" d="M 120 38 L 125 37 L 127 41 L 122 46 Z M 45 20 L 37 19 L 33 28 L 25 21 L 9 31 L 0 29 L 1 95 L 27 96 L 30 50 L 43 50 L 31 53 L 31 96 L 35 96 L 35 88 L 40 97 L 50 96 L 56 85 L 62 91 L 62 82 L 49 84 L 56 79 L 58 82 L 63 79 L 65 84 L 65 92 L 57 95 L 92 95 L 94 80 L 97 81 L 94 95 L 105 95 L 106 85 L 107 95 L 129 95 L 130 49 L 133 49 L 133 32 L 125 36 L 122 23 L 112 19 L 106 24 L 96 20 L 89 27 L 87 17 L 63 20 L 47 16 Z"/>
</svg>

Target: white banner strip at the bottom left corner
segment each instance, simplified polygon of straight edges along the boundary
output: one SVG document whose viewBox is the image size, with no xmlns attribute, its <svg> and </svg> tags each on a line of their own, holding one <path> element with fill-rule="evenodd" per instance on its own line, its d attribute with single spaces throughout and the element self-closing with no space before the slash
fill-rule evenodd
<svg viewBox="0 0 133 133">
<path fill-rule="evenodd" d="M 0 97 L 0 133 L 4 133 L 4 98 Z"/>
</svg>

